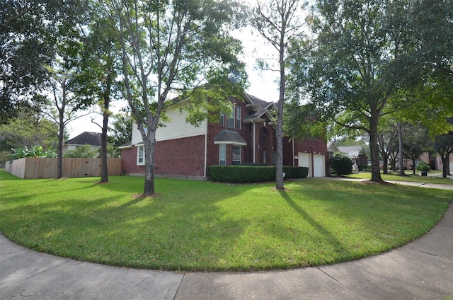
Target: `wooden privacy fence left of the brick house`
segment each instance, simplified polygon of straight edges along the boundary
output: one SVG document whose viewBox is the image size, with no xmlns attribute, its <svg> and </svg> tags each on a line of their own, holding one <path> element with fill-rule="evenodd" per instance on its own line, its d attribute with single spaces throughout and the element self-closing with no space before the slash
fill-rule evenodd
<svg viewBox="0 0 453 300">
<path fill-rule="evenodd" d="M 108 158 L 108 175 L 121 174 L 121 158 Z M 5 170 L 19 178 L 57 178 L 57 158 L 26 157 L 6 161 Z M 63 158 L 63 177 L 101 176 L 101 158 Z"/>
</svg>

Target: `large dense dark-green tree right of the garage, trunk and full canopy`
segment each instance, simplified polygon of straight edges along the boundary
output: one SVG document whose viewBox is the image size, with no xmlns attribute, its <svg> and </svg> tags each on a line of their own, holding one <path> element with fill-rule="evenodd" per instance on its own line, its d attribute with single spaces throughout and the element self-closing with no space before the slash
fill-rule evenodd
<svg viewBox="0 0 453 300">
<path fill-rule="evenodd" d="M 298 68 L 300 78 L 323 115 L 369 134 L 373 181 L 382 181 L 377 146 L 380 118 L 423 100 L 432 89 L 429 79 L 435 74 L 445 79 L 451 67 L 451 38 L 447 46 L 437 42 L 437 54 L 420 59 L 430 47 L 428 31 L 420 30 L 449 28 L 452 23 L 452 10 L 440 18 L 430 13 L 430 23 L 428 16 L 418 19 L 424 2 L 431 1 L 317 1 L 312 23 L 316 47 L 308 61 L 299 59 L 306 66 Z M 440 2 L 451 7 L 451 1 Z M 443 58 L 436 62 L 436 57 Z M 413 90 L 417 92 L 408 93 Z M 418 97 L 401 96 L 408 94 Z"/>
</svg>

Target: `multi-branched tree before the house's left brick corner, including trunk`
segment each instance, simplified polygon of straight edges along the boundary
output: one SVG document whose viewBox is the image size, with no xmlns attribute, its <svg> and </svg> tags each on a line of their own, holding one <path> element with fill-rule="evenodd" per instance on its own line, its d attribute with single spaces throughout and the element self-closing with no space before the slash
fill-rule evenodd
<svg viewBox="0 0 453 300">
<path fill-rule="evenodd" d="M 231 110 L 228 96 L 240 95 L 241 44 L 230 33 L 241 6 L 231 0 L 101 3 L 122 53 L 118 85 L 144 142 L 144 195 L 154 195 L 156 129 L 170 99 L 185 101 L 197 124 Z"/>
</svg>

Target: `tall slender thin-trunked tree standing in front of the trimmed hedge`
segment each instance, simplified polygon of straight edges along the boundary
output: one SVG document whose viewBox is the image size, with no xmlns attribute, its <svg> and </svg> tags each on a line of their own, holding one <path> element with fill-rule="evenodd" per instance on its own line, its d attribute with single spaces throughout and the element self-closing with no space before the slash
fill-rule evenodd
<svg viewBox="0 0 453 300">
<path fill-rule="evenodd" d="M 283 184 L 283 109 L 287 75 L 287 60 L 292 42 L 304 37 L 302 1 L 272 0 L 257 1 L 253 11 L 252 25 L 273 46 L 277 53 L 276 71 L 279 72 L 280 93 L 277 102 L 277 171 L 275 188 L 282 190 Z M 301 44 L 299 44 L 301 45 Z M 272 67 L 271 67 L 272 68 Z M 302 110 L 301 110 L 302 111 Z"/>
</svg>

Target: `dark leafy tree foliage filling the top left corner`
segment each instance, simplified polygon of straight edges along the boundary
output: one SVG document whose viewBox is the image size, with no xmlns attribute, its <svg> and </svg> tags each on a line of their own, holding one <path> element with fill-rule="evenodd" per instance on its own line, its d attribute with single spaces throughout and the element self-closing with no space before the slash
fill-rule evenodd
<svg viewBox="0 0 453 300">
<path fill-rule="evenodd" d="M 57 28 L 74 23 L 78 0 L 0 1 L 0 123 L 42 88 Z"/>
</svg>

